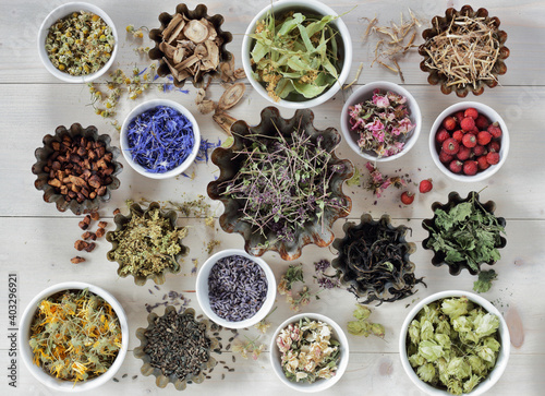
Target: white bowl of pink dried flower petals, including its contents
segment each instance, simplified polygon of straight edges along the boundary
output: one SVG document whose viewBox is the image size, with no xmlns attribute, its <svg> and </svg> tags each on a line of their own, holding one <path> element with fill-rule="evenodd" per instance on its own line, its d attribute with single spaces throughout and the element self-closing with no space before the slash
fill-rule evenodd
<svg viewBox="0 0 545 396">
<path fill-rule="evenodd" d="M 389 161 L 407 154 L 419 139 L 422 113 L 405 88 L 377 81 L 350 95 L 342 107 L 341 130 L 361 157 Z"/>
</svg>

